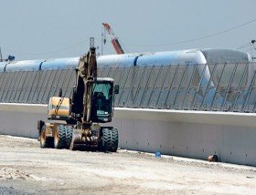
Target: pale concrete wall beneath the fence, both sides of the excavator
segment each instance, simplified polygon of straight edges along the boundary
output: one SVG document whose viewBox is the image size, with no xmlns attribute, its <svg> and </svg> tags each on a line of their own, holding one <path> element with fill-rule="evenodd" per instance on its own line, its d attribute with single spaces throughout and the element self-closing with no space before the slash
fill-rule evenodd
<svg viewBox="0 0 256 195">
<path fill-rule="evenodd" d="M 0 134 L 37 138 L 46 105 L 0 104 Z M 123 149 L 256 166 L 256 115 L 246 113 L 116 108 Z M 110 126 L 110 124 L 105 124 Z"/>
</svg>

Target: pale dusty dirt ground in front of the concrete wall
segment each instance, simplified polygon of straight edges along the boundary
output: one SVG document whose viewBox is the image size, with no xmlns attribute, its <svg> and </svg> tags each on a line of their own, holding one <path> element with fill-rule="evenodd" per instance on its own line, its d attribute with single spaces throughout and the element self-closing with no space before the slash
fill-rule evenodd
<svg viewBox="0 0 256 195">
<path fill-rule="evenodd" d="M 256 168 L 0 136 L 0 194 L 256 194 Z"/>
</svg>

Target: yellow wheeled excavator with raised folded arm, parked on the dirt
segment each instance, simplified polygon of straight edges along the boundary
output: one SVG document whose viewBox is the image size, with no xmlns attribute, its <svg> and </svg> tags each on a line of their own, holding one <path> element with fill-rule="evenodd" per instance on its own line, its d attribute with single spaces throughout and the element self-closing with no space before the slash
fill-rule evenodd
<svg viewBox="0 0 256 195">
<path fill-rule="evenodd" d="M 80 56 L 72 97 L 50 97 L 47 123 L 37 121 L 41 148 L 99 149 L 114 152 L 118 148 L 118 130 L 101 127 L 112 121 L 114 94 L 119 86 L 113 79 L 97 77 L 95 48 Z"/>
</svg>

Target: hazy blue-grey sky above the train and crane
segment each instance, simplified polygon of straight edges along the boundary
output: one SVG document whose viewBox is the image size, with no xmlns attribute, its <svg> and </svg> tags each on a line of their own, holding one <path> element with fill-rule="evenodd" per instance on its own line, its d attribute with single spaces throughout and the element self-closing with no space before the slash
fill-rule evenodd
<svg viewBox="0 0 256 195">
<path fill-rule="evenodd" d="M 80 56 L 91 36 L 101 53 L 103 22 L 126 53 L 240 46 L 255 53 L 250 45 L 256 39 L 255 0 L 1 0 L 0 5 L 4 58 Z M 103 54 L 115 54 L 110 36 Z"/>
</svg>

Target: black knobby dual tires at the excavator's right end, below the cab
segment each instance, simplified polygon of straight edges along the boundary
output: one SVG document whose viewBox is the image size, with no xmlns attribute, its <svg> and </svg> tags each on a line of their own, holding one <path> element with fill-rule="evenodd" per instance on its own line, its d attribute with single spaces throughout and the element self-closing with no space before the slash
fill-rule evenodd
<svg viewBox="0 0 256 195">
<path fill-rule="evenodd" d="M 102 128 L 102 150 L 116 152 L 118 148 L 118 131 L 116 128 Z"/>
</svg>

